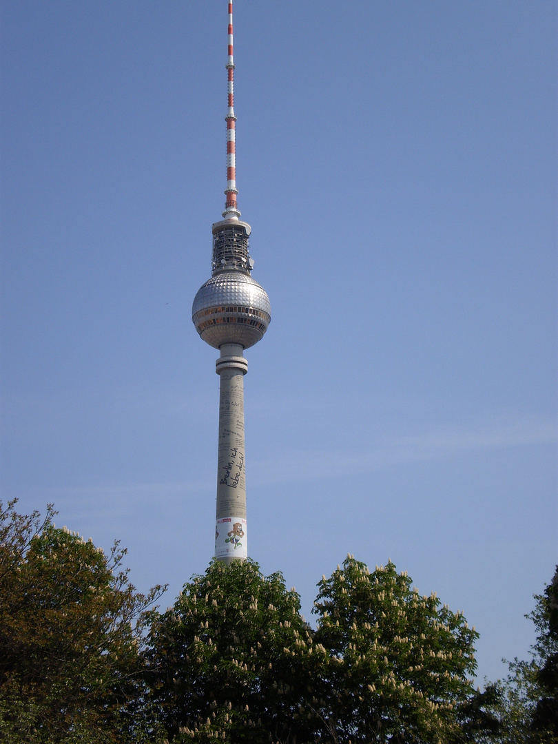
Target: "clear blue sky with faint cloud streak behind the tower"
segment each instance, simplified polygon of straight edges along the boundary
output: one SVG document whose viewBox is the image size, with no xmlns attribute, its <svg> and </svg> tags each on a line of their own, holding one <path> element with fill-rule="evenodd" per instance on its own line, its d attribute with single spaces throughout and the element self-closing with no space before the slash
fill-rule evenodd
<svg viewBox="0 0 558 744">
<path fill-rule="evenodd" d="M 235 0 L 249 552 L 310 615 L 347 552 L 527 655 L 557 551 L 557 4 Z M 213 553 L 226 1 L 1 3 L 1 498 Z"/>
</svg>

